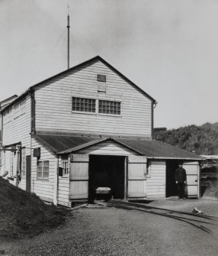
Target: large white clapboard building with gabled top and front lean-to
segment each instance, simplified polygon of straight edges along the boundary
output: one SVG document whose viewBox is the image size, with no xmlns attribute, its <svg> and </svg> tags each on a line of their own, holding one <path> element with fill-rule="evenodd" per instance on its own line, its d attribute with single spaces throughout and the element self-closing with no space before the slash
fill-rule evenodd
<svg viewBox="0 0 218 256">
<path fill-rule="evenodd" d="M 174 196 L 175 168 L 183 160 L 186 193 L 198 197 L 201 157 L 152 140 L 154 105 L 94 57 L 31 86 L 2 109 L 1 173 L 11 180 L 21 173 L 22 189 L 71 206 L 88 199 L 91 175 L 102 173 L 114 198 Z M 11 147 L 17 151 L 6 151 Z"/>
</svg>

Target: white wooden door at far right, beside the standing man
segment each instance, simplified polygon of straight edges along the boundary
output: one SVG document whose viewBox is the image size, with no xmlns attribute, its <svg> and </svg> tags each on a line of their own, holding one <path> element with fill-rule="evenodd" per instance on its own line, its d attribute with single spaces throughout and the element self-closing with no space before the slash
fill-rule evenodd
<svg viewBox="0 0 218 256">
<path fill-rule="evenodd" d="M 186 162 L 183 164 L 186 170 L 187 183 L 185 193 L 188 197 L 199 197 L 199 164 L 198 162 Z"/>
</svg>

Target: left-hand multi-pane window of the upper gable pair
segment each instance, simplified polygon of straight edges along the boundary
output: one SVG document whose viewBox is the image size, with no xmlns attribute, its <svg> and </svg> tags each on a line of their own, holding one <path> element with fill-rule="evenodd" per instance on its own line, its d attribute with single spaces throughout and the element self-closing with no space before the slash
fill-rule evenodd
<svg viewBox="0 0 218 256">
<path fill-rule="evenodd" d="M 72 97 L 72 111 L 95 113 L 95 99 Z"/>
</svg>

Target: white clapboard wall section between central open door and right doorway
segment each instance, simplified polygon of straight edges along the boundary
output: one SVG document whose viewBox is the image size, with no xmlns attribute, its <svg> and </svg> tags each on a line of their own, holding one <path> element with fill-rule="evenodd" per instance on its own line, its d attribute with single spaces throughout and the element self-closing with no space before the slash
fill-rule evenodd
<svg viewBox="0 0 218 256">
<path fill-rule="evenodd" d="M 147 199 L 165 198 L 165 161 L 151 161 L 147 177 Z"/>
</svg>

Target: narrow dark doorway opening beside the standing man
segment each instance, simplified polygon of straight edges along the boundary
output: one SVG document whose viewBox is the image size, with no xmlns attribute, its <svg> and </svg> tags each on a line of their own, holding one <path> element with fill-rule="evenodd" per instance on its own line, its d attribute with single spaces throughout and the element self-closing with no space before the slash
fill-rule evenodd
<svg viewBox="0 0 218 256">
<path fill-rule="evenodd" d="M 178 168 L 178 160 L 166 161 L 166 197 L 178 196 L 178 186 L 175 183 L 175 170 Z"/>
</svg>

